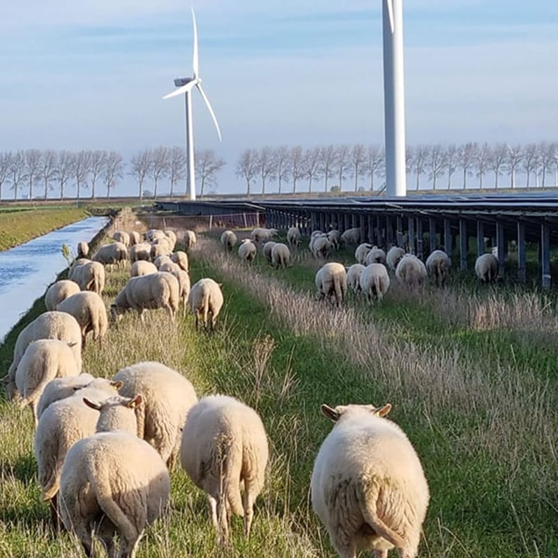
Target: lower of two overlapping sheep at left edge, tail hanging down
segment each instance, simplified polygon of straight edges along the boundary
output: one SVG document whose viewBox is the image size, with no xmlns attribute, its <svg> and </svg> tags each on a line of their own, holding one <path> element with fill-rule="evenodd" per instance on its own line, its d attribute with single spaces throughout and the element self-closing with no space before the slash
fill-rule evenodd
<svg viewBox="0 0 558 558">
<path fill-rule="evenodd" d="M 39 339 L 27 345 L 27 349 L 17 365 L 15 377 L 6 377 L 6 394 L 17 400 L 20 407 L 31 407 L 35 428 L 38 423 L 37 405 L 45 386 L 51 379 L 77 376 L 80 374 L 81 361 L 65 341 Z"/>
</svg>

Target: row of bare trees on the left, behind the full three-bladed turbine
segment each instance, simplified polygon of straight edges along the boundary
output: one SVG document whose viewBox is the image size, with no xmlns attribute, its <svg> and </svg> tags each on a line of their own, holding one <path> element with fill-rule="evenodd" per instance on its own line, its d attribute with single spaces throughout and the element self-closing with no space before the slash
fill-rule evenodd
<svg viewBox="0 0 558 558">
<path fill-rule="evenodd" d="M 216 185 L 216 172 L 225 165 L 211 149 L 196 151 L 195 166 L 201 195 L 206 187 Z M 55 151 L 53 149 L 25 149 L 0 153 L 0 200 L 6 199 L 4 190 L 9 186 L 14 199 L 33 199 L 33 193 L 40 188 L 40 197 L 47 199 L 49 192 L 57 190 L 59 199 L 68 197 L 67 188 L 75 188 L 75 197 L 80 199 L 84 188 L 91 189 L 86 197 L 96 198 L 96 188 L 102 183 L 110 192 L 122 181 L 127 172 L 137 180 L 139 197 L 146 190 L 146 179 L 153 181 L 153 197 L 158 194 L 160 182 L 168 179 L 171 196 L 176 183 L 186 178 L 186 153 L 181 147 L 159 146 L 144 149 L 124 163 L 116 151 L 86 150 Z M 72 196 L 74 197 L 74 196 Z"/>
</svg>

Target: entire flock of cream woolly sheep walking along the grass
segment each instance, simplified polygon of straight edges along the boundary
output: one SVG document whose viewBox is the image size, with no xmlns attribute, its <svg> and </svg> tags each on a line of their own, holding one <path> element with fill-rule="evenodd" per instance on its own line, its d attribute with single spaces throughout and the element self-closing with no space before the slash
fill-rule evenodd
<svg viewBox="0 0 558 558">
<path fill-rule="evenodd" d="M 299 246 L 296 227 L 287 244 L 274 242 L 276 229 L 254 229 L 241 241 L 239 257 L 252 262 L 261 248 L 266 260 L 289 266 Z M 238 243 L 227 230 L 227 251 Z M 444 285 L 450 266 L 442 250 L 425 263 L 402 248 L 384 250 L 361 243 L 360 230 L 343 234 L 316 231 L 310 237 L 315 257 L 326 257 L 341 243 L 356 245 L 358 263 L 324 264 L 316 273 L 319 296 L 339 306 L 347 286 L 368 298 L 389 289 L 388 268 L 400 282 L 416 285 L 430 274 Z M 115 555 L 133 557 L 146 525 L 160 517 L 169 500 L 169 471 L 176 460 L 195 485 L 206 492 L 211 520 L 220 543 L 226 543 L 231 513 L 243 516 L 250 534 L 253 506 L 262 490 L 269 458 L 262 419 L 243 402 L 226 395 L 198 400 L 193 385 L 162 363 L 134 363 L 112 380 L 82 372 L 82 349 L 92 333 L 101 349 L 107 333 L 107 309 L 100 294 L 105 272 L 130 262 L 130 279 L 110 307 L 112 319 L 126 310 L 165 308 L 174 319 L 182 301 L 213 329 L 223 306 L 220 285 L 203 278 L 190 288 L 188 250 L 195 235 L 186 232 L 186 251 L 174 251 L 176 234 L 152 229 L 118 232 L 91 260 L 88 246 L 78 246 L 69 279 L 45 294 L 47 312 L 17 338 L 13 362 L 4 378 L 8 397 L 29 405 L 35 421 L 33 451 L 43 498 L 50 502 L 56 529 L 59 520 L 91 554 L 92 532 Z M 290 246 L 290 248 L 289 248 Z M 483 280 L 492 280 L 492 255 L 477 261 Z M 495 262 L 497 271 L 497 261 Z M 211 321 L 209 316 L 211 315 Z M 322 405 L 334 426 L 324 440 L 310 482 L 312 507 L 324 522 L 341 558 L 374 550 L 387 558 L 416 557 L 428 508 L 428 483 L 421 462 L 402 430 L 386 418 L 391 405 Z M 241 492 L 242 490 L 242 492 Z"/>
</svg>

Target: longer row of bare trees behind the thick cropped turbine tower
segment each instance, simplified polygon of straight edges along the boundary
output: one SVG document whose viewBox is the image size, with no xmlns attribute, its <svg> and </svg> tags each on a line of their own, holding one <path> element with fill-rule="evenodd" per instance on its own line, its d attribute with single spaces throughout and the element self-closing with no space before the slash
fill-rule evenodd
<svg viewBox="0 0 558 558">
<path fill-rule="evenodd" d="M 558 185 L 558 143 L 540 142 L 525 146 L 499 143 L 450 144 L 442 146 L 408 146 L 406 153 L 407 173 L 414 175 L 414 188 L 451 188 L 452 177 L 459 176 L 460 188 L 467 188 L 467 179 L 476 177 L 476 186 L 485 186 L 485 177 L 492 175 L 493 187 L 502 186 L 499 178 L 508 174 L 508 187 L 517 186 L 518 174 L 525 176 L 525 186 L 546 186 L 550 172 L 555 173 Z M 459 171 L 459 173 L 458 173 Z M 252 194 L 255 184 L 261 186 L 265 194 L 269 184 L 277 183 L 278 193 L 285 185 L 296 192 L 301 181 L 306 181 L 308 193 L 312 185 L 322 181 L 325 192 L 342 190 L 347 179 L 352 180 L 352 188 L 375 190 L 375 178 L 385 179 L 385 153 L 380 146 L 326 145 L 303 149 L 301 146 L 265 146 L 260 149 L 246 149 L 236 163 L 236 176 L 246 181 L 246 193 Z M 441 186 L 442 177 L 446 177 Z M 455 179 L 454 179 L 455 180 Z M 363 186 L 366 181 L 365 186 Z M 425 182 L 426 181 L 426 182 Z M 335 186 L 330 187 L 334 183 Z"/>
</svg>

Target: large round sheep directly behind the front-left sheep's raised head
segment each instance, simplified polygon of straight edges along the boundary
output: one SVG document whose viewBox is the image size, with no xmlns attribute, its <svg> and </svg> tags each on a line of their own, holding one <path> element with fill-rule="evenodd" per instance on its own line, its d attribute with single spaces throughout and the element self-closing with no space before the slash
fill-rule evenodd
<svg viewBox="0 0 558 558">
<path fill-rule="evenodd" d="M 193 385 L 168 366 L 140 362 L 121 368 L 114 375 L 119 394 L 141 393 L 144 405 L 137 407 L 137 436 L 151 444 L 163 461 L 172 466 L 180 449 L 182 428 L 190 407 L 197 402 Z M 132 394 L 132 395 L 130 395 Z"/>
</svg>

